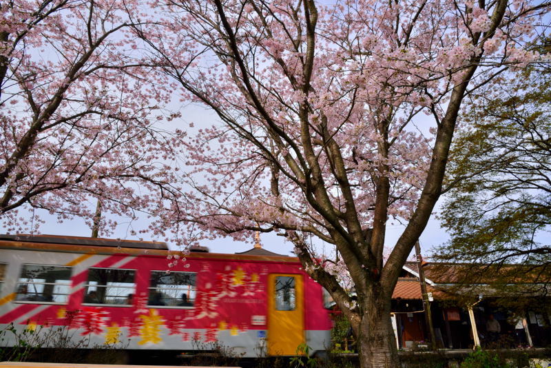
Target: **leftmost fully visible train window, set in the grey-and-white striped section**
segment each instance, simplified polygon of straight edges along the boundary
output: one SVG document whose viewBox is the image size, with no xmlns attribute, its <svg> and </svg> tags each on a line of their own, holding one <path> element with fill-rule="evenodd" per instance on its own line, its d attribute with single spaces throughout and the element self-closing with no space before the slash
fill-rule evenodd
<svg viewBox="0 0 551 368">
<path fill-rule="evenodd" d="M 23 265 L 15 300 L 67 303 L 71 289 L 71 269 L 67 266 Z"/>
</svg>

